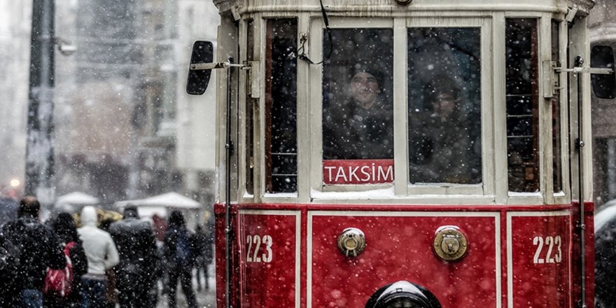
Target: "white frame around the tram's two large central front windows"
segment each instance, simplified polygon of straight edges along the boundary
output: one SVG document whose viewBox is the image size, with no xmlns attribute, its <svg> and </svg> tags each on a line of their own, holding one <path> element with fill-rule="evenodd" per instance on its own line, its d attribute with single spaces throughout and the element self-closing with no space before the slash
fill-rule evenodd
<svg viewBox="0 0 616 308">
<path fill-rule="evenodd" d="M 369 22 L 367 22 L 369 20 Z M 481 35 L 481 78 L 491 80 L 492 53 L 491 53 L 491 22 L 486 17 L 465 17 L 465 18 L 440 18 L 440 17 L 419 17 L 419 18 L 330 18 L 330 28 L 388 28 L 393 29 L 394 50 L 393 50 L 393 104 L 394 110 L 407 110 L 407 29 L 409 27 L 477 27 Z M 310 55 L 321 55 L 323 50 L 323 29 L 325 29 L 320 18 L 311 20 L 309 41 Z M 402 65 L 403 64 L 403 65 Z M 312 65 L 309 68 L 310 78 L 310 97 L 309 111 L 311 127 L 313 132 L 322 132 L 322 80 L 323 74 L 320 65 Z M 358 203 L 362 200 L 379 202 L 414 202 L 419 203 L 451 203 L 448 195 L 460 195 L 464 200 L 456 199 L 456 203 L 463 202 L 468 204 L 493 203 L 494 188 L 493 184 L 494 165 L 491 159 L 493 153 L 493 130 L 485 127 L 493 126 L 493 95 L 492 86 L 482 83 L 482 183 L 479 184 L 410 184 L 409 166 L 407 163 L 408 143 L 394 141 L 394 174 L 393 184 L 379 185 L 323 185 L 323 153 L 322 153 L 322 134 L 313 134 L 311 137 L 311 161 L 310 165 L 310 188 L 311 197 L 323 202 L 336 202 L 336 200 L 346 200 L 354 198 Z M 405 112 L 394 113 L 394 140 L 407 140 L 408 116 Z M 392 200 L 393 199 L 393 200 Z M 397 200 L 397 201 L 396 201 Z"/>
</svg>

